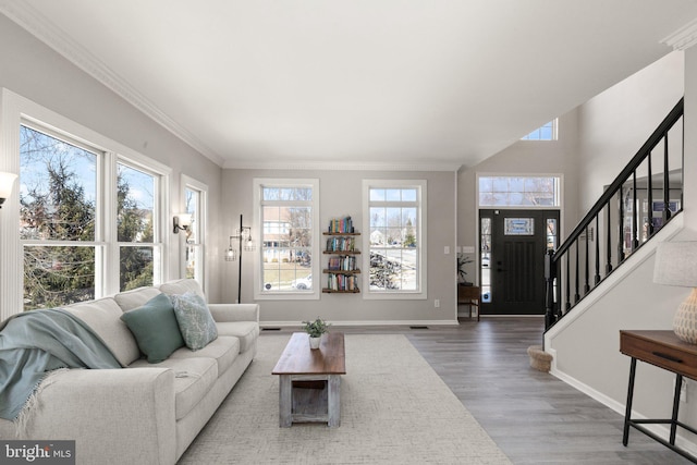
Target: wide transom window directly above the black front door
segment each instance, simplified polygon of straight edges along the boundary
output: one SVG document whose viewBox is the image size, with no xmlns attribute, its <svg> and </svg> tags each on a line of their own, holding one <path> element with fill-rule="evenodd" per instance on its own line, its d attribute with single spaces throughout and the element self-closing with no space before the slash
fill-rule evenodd
<svg viewBox="0 0 697 465">
<path fill-rule="evenodd" d="M 559 176 L 479 176 L 480 207 L 559 207 Z"/>
</svg>

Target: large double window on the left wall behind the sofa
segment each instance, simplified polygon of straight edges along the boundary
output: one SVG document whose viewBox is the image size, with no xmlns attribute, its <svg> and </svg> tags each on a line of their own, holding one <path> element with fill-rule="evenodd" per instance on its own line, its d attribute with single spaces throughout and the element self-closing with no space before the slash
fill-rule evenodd
<svg viewBox="0 0 697 465">
<path fill-rule="evenodd" d="M 164 175 L 41 123 L 19 127 L 23 308 L 160 282 Z"/>
</svg>

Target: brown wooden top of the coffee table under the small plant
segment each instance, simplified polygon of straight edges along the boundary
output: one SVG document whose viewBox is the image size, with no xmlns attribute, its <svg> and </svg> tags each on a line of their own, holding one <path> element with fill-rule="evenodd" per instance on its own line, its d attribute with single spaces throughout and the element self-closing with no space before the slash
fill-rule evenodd
<svg viewBox="0 0 697 465">
<path fill-rule="evenodd" d="M 319 348 L 309 348 L 309 336 L 294 332 L 272 375 L 345 375 L 344 334 L 326 333 Z"/>
</svg>

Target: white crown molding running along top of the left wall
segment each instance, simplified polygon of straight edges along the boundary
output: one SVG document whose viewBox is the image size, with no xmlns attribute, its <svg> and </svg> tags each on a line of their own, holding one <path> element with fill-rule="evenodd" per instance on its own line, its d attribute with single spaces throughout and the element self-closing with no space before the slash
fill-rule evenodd
<svg viewBox="0 0 697 465">
<path fill-rule="evenodd" d="M 188 130 L 161 111 L 155 103 L 138 93 L 125 79 L 111 71 L 109 66 L 101 62 L 97 57 L 69 37 L 63 30 L 56 27 L 36 9 L 23 1 L 0 0 L 0 13 L 19 24 L 34 37 L 114 91 L 121 98 L 145 113 L 148 118 L 160 124 L 174 136 L 189 145 L 192 148 L 204 155 L 206 158 L 210 159 L 219 167 L 223 166 L 222 157 L 200 142 Z"/>
</svg>

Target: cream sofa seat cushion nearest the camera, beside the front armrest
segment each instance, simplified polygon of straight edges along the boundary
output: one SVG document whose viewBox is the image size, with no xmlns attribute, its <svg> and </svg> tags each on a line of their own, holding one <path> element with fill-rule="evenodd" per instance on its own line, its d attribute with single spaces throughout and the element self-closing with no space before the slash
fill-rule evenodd
<svg viewBox="0 0 697 465">
<path fill-rule="evenodd" d="M 181 419 L 200 402 L 218 379 L 218 364 L 212 358 L 168 358 L 151 365 L 136 360 L 131 368 L 163 367 L 174 371 L 174 415 Z"/>
</svg>

